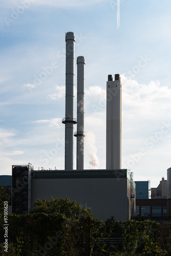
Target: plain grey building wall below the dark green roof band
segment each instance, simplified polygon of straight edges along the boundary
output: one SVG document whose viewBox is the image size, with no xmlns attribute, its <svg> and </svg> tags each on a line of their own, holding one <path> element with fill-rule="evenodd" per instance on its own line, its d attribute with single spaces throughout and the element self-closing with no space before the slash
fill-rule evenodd
<svg viewBox="0 0 171 256">
<path fill-rule="evenodd" d="M 66 198 L 91 208 L 94 217 L 116 221 L 131 217 L 131 183 L 127 178 L 32 179 L 32 207 L 38 199 Z"/>
</svg>

